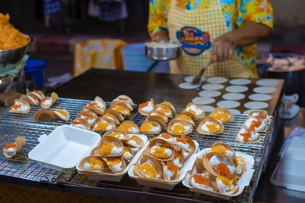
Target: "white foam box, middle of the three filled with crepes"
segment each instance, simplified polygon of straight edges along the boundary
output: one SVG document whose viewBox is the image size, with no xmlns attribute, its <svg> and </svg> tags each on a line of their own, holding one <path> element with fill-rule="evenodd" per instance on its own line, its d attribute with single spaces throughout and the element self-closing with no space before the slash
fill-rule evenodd
<svg viewBox="0 0 305 203">
<path fill-rule="evenodd" d="M 199 151 L 199 144 L 196 141 L 194 141 L 194 142 L 195 142 L 195 145 L 196 145 L 196 152 L 198 152 Z M 143 151 L 146 149 L 148 144 L 149 144 L 149 142 L 147 142 Z M 185 156 L 185 153 L 184 153 L 184 156 Z M 138 159 L 139 159 L 139 157 L 138 157 Z M 157 187 L 157 188 L 166 189 L 166 190 L 172 190 L 187 175 L 187 172 L 192 169 L 192 167 L 194 165 L 194 162 L 196 160 L 196 157 L 197 157 L 197 153 L 194 153 L 193 155 L 189 156 L 189 158 L 185 162 L 184 166 L 179 171 L 180 172 L 179 179 L 175 180 L 175 181 L 165 181 L 165 180 L 161 181 L 161 180 L 156 180 L 156 179 L 139 177 L 137 174 L 134 174 L 134 165 L 132 165 L 130 167 L 130 169 L 128 171 L 128 175 L 129 175 L 129 177 L 136 179 L 136 181 L 140 185 L 144 185 L 144 186 L 148 186 L 148 187 Z M 136 162 L 137 161 L 138 160 L 136 160 Z"/>
</svg>

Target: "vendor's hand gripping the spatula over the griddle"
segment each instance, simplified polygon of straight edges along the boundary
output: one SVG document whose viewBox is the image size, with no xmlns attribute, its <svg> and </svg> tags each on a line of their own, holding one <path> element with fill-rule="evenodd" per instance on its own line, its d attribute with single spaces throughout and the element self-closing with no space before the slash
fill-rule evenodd
<svg viewBox="0 0 305 203">
<path fill-rule="evenodd" d="M 235 43 L 226 33 L 212 42 L 212 63 L 223 62 L 233 57 Z"/>
</svg>

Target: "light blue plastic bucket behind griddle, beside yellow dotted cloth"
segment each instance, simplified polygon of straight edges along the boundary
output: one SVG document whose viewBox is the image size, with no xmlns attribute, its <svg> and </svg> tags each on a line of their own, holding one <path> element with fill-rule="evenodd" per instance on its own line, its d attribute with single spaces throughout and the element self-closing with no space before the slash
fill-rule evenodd
<svg viewBox="0 0 305 203">
<path fill-rule="evenodd" d="M 156 63 L 145 55 L 145 43 L 130 44 L 122 48 L 124 70 L 147 72 Z"/>
</svg>

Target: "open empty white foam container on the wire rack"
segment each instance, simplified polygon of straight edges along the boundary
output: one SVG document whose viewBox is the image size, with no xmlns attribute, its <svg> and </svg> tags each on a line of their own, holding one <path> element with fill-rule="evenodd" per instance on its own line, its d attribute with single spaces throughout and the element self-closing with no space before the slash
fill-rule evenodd
<svg viewBox="0 0 305 203">
<path fill-rule="evenodd" d="M 49 135 L 42 134 L 38 138 L 40 143 L 28 153 L 28 158 L 40 166 L 67 173 L 98 145 L 100 138 L 96 132 L 62 125 Z"/>
</svg>

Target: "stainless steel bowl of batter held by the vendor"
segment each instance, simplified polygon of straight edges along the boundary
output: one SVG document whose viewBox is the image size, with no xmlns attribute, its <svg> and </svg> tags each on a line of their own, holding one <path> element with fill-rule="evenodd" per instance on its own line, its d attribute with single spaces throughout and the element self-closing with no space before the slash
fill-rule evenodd
<svg viewBox="0 0 305 203">
<path fill-rule="evenodd" d="M 156 46 L 152 43 L 156 43 Z M 181 52 L 181 45 L 173 41 L 145 43 L 145 54 L 150 60 L 174 60 L 180 57 Z"/>
</svg>

